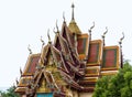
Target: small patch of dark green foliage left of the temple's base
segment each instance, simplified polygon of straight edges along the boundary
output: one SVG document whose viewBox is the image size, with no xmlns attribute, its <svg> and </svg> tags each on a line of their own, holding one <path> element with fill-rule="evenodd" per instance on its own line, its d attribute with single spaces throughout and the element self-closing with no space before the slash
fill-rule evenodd
<svg viewBox="0 0 132 97">
<path fill-rule="evenodd" d="M 15 87 L 12 86 L 7 91 L 0 91 L 1 97 L 20 97 L 18 94 L 14 93 Z"/>
</svg>

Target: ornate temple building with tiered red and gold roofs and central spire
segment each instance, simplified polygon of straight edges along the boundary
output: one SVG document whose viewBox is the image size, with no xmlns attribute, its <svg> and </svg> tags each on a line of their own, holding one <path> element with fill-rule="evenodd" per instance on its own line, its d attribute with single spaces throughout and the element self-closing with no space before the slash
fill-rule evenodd
<svg viewBox="0 0 132 97">
<path fill-rule="evenodd" d="M 65 18 L 62 30 L 56 32 L 54 41 L 44 44 L 38 54 L 30 51 L 25 67 L 20 69 L 15 93 L 21 97 L 91 97 L 96 82 L 101 76 L 114 75 L 122 67 L 122 40 L 119 45 L 106 46 L 105 35 L 91 40 L 91 32 L 82 33 L 74 18 L 67 25 Z"/>
</svg>

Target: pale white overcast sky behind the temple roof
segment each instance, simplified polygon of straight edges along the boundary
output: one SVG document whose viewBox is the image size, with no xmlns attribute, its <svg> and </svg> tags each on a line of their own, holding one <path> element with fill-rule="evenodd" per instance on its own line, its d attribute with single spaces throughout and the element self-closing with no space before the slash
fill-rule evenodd
<svg viewBox="0 0 132 97">
<path fill-rule="evenodd" d="M 41 51 L 41 35 L 47 42 L 47 29 L 54 39 L 53 28 L 70 21 L 72 0 L 0 0 L 0 87 L 9 87 L 20 77 L 29 56 Z M 132 0 L 75 0 L 75 19 L 82 32 L 95 21 L 92 39 L 101 39 L 105 28 L 107 45 L 117 45 L 122 36 L 124 58 L 132 58 Z"/>
</svg>

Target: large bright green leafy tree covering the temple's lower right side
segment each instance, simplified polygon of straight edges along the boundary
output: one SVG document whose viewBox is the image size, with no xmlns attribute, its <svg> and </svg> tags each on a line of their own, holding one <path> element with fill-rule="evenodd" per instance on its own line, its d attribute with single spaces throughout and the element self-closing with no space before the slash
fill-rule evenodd
<svg viewBox="0 0 132 97">
<path fill-rule="evenodd" d="M 132 97 L 132 66 L 125 62 L 117 75 L 98 79 L 92 97 Z"/>
</svg>

